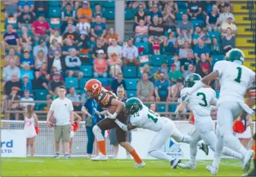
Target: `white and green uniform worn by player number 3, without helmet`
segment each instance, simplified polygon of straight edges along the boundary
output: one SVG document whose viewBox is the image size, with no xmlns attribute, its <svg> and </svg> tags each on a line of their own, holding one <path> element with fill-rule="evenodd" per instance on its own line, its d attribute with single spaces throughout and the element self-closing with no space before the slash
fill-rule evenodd
<svg viewBox="0 0 256 177">
<path fill-rule="evenodd" d="M 196 144 L 203 140 L 212 151 L 216 149 L 217 138 L 214 133 L 214 123 L 210 116 L 211 105 L 217 104 L 216 93 L 212 88 L 199 88 L 199 90 L 186 95 L 191 88 L 181 90 L 181 99 L 183 103 L 188 104 L 194 114 L 194 124 L 196 129 L 191 133 L 192 142 L 190 143 L 190 163 L 195 164 Z M 241 154 L 224 147 L 222 153 L 226 156 L 232 156 L 241 159 Z"/>
</svg>

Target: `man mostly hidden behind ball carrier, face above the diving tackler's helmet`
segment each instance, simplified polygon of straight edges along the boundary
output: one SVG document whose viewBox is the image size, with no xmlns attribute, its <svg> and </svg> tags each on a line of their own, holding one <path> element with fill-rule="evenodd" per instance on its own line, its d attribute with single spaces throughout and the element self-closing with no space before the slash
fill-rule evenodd
<svg viewBox="0 0 256 177">
<path fill-rule="evenodd" d="M 123 86 L 118 86 L 116 93 L 117 93 L 118 100 L 125 103 L 127 100 L 127 98 L 125 97 L 125 88 Z M 110 145 L 113 145 L 113 155 L 116 158 L 118 156 L 119 145 L 118 145 L 118 141 L 116 140 L 115 129 L 109 130 L 109 140 L 110 140 Z M 127 131 L 127 142 L 131 143 L 131 131 Z M 129 154 L 129 152 L 126 151 L 126 153 L 127 153 L 127 158 L 131 158 L 131 155 Z"/>
</svg>

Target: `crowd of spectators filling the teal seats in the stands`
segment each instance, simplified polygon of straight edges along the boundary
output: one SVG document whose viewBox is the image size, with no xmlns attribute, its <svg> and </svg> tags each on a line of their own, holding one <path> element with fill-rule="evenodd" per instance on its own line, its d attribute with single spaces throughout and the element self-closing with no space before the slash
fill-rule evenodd
<svg viewBox="0 0 256 177">
<path fill-rule="evenodd" d="M 120 85 L 127 90 L 125 68 L 134 66 L 134 96 L 177 102 L 187 75 L 208 75 L 235 48 L 237 26 L 228 0 L 125 2 L 134 15 L 134 35 L 122 41 L 107 26 L 104 1 L 4 1 L 5 99 L 41 100 L 35 92 L 44 90 L 51 101 L 70 78 L 78 81 L 68 86 L 73 102 L 83 101 L 79 83 L 92 77 L 113 92 Z M 218 82 L 212 87 L 218 91 Z M 74 106 L 78 111 L 82 104 Z"/>
</svg>

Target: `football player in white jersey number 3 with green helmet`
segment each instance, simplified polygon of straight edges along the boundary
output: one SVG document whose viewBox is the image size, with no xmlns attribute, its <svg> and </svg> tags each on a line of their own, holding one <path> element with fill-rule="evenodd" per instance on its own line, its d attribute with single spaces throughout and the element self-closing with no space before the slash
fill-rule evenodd
<svg viewBox="0 0 256 177">
<path fill-rule="evenodd" d="M 210 86 L 204 86 L 203 88 L 199 88 L 199 90 L 192 93 L 192 95 L 187 95 L 188 91 L 190 91 L 191 87 L 198 81 L 201 80 L 201 76 L 198 74 L 190 74 L 185 78 L 184 86 L 181 90 L 181 104 L 176 109 L 176 114 L 181 114 L 185 106 L 190 106 L 194 114 L 194 124 L 196 129 L 192 135 L 192 142 L 190 143 L 190 161 L 183 164 L 179 163 L 179 167 L 183 169 L 195 169 L 196 168 L 196 152 L 197 147 L 196 144 L 199 140 L 202 140 L 215 151 L 216 146 L 216 136 L 214 134 L 214 123 L 210 116 L 212 111 L 212 107 L 216 106 L 217 98 L 215 91 L 210 88 Z M 240 153 L 232 151 L 226 147 L 223 148 L 222 153 L 226 156 L 232 156 L 238 158 L 239 160 L 243 159 Z"/>
</svg>

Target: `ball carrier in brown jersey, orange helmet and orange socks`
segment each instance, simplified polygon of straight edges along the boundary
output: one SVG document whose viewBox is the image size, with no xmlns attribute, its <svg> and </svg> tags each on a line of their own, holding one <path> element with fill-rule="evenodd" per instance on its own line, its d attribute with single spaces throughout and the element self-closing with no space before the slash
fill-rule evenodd
<svg viewBox="0 0 256 177">
<path fill-rule="evenodd" d="M 98 142 L 100 153 L 97 157 L 91 158 L 91 160 L 107 160 L 107 153 L 106 153 L 106 147 L 105 147 L 105 141 L 104 137 L 102 136 L 102 131 L 109 130 L 109 129 L 116 129 L 116 139 L 118 140 L 118 143 L 121 147 L 124 147 L 131 156 L 133 156 L 137 168 L 145 167 L 145 162 L 140 159 L 138 156 L 138 153 L 132 147 L 129 142 L 127 142 L 127 131 L 122 130 L 120 127 L 118 127 L 118 122 L 122 122 L 124 124 L 127 124 L 128 122 L 128 116 L 125 115 L 123 108 L 124 104 L 118 100 L 118 97 L 116 97 L 116 94 L 112 93 L 111 91 L 107 91 L 105 88 L 102 87 L 102 84 L 100 81 L 92 79 L 86 82 L 84 86 L 84 91 L 86 91 L 85 95 L 86 97 L 93 98 L 98 104 L 104 108 L 107 109 L 110 106 L 117 106 L 116 112 L 111 114 L 107 111 L 107 115 L 105 116 L 104 120 L 101 120 L 93 127 L 93 133 L 94 136 Z M 116 121 L 119 120 L 119 121 Z"/>
</svg>

